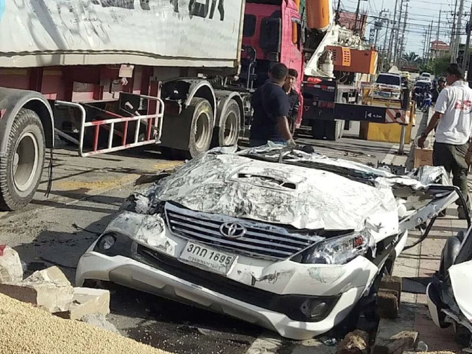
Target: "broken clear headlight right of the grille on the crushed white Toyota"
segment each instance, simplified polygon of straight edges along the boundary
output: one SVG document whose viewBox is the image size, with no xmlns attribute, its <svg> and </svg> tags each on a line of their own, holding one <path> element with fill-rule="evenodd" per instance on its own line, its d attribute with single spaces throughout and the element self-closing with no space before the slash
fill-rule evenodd
<svg viewBox="0 0 472 354">
<path fill-rule="evenodd" d="M 373 244 L 372 236 L 360 233 L 329 238 L 308 250 L 303 263 L 346 264 L 357 256 L 363 256 Z"/>
</svg>

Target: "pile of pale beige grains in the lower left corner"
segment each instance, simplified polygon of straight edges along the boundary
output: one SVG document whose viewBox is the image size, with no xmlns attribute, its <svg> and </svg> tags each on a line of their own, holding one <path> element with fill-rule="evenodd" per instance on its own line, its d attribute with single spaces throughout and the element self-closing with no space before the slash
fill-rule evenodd
<svg viewBox="0 0 472 354">
<path fill-rule="evenodd" d="M 168 354 L 0 294 L 0 354 Z"/>
</svg>

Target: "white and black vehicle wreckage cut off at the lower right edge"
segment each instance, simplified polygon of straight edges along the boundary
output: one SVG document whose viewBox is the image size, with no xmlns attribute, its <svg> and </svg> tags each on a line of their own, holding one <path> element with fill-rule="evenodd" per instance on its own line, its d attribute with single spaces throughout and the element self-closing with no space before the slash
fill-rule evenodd
<svg viewBox="0 0 472 354">
<path fill-rule="evenodd" d="M 472 347 L 472 227 L 447 239 L 441 265 L 426 290 L 428 307 L 440 328 L 454 326 L 456 334 L 465 332 Z M 462 336 L 464 337 L 464 336 Z M 471 350 L 471 348 L 468 348 Z M 470 352 L 467 350 L 468 352 Z"/>
</svg>

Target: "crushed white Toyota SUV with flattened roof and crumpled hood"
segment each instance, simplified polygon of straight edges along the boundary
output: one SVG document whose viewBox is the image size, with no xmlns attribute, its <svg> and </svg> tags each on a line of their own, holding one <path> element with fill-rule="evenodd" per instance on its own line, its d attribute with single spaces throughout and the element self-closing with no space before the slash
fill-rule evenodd
<svg viewBox="0 0 472 354">
<path fill-rule="evenodd" d="M 158 177 L 80 258 L 76 285 L 110 281 L 294 339 L 362 311 L 408 229 L 457 199 L 442 168 L 399 177 L 272 144 Z"/>
</svg>

